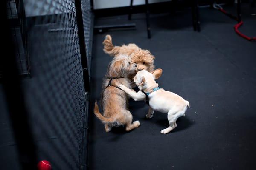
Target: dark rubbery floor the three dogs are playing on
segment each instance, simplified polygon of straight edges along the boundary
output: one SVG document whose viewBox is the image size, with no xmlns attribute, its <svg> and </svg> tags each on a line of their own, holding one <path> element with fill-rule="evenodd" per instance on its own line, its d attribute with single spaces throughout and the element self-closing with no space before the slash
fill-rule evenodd
<svg viewBox="0 0 256 170">
<path fill-rule="evenodd" d="M 233 11 L 233 8 L 227 8 Z M 233 11 L 235 12 L 235 11 Z M 190 102 L 185 117 L 167 135 L 167 114 L 145 119 L 148 106 L 130 99 L 141 126 L 126 133 L 116 127 L 105 133 L 91 113 L 91 170 L 253 170 L 256 169 L 256 42 L 239 37 L 235 21 L 216 10 L 201 9 L 200 33 L 192 30 L 189 10 L 151 15 L 152 38 L 146 38 L 145 15 L 135 14 L 136 29 L 94 36 L 92 101 L 100 99 L 102 78 L 111 57 L 102 41 L 111 34 L 116 45 L 136 43 L 156 57 L 163 69 L 161 88 Z M 256 18 L 243 7 L 241 31 L 256 36 Z M 127 16 L 100 18 L 96 24 L 127 23 Z"/>
</svg>

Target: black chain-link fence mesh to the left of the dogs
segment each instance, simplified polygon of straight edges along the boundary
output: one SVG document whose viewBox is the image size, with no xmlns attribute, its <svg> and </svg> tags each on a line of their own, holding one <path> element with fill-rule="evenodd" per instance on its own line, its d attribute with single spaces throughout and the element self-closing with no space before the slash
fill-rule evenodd
<svg viewBox="0 0 256 170">
<path fill-rule="evenodd" d="M 76 3 L 81 3 L 85 47 L 79 43 Z M 15 4 L 23 5 L 26 22 L 20 22 Z M 30 74 L 21 80 L 21 89 L 37 160 L 48 160 L 54 170 L 87 169 L 90 92 L 85 90 L 89 77 L 84 79 L 84 71 L 90 67 L 82 66 L 81 57 L 87 57 L 90 66 L 90 0 L 9 0 L 8 6 L 9 19 L 18 18 L 21 25 L 12 26 L 13 41 L 15 49 L 23 49 L 16 53 L 19 74 L 24 68 Z M 22 28 L 26 28 L 25 36 Z M 81 56 L 81 48 L 86 48 L 87 56 Z"/>
</svg>

